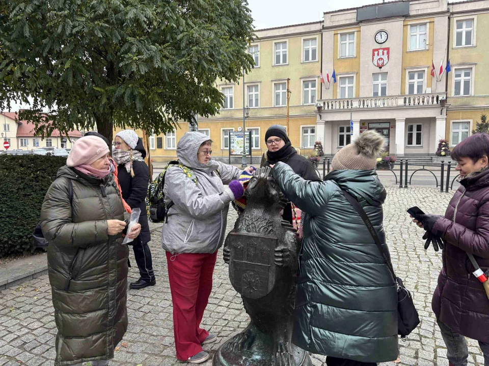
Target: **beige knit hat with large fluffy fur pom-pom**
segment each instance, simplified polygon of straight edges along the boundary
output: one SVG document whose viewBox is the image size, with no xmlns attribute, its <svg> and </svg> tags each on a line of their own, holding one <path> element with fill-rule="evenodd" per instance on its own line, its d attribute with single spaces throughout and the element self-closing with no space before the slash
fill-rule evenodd
<svg viewBox="0 0 489 366">
<path fill-rule="evenodd" d="M 384 149 L 385 139 L 375 130 L 360 134 L 346 145 L 333 158 L 333 170 L 355 169 L 371 170 L 377 165 L 377 158 Z"/>
</svg>

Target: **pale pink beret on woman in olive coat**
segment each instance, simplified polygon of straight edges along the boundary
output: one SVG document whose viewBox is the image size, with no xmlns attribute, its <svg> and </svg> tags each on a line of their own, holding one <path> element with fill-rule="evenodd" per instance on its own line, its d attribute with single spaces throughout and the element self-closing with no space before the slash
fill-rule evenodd
<svg viewBox="0 0 489 366">
<path fill-rule="evenodd" d="M 66 165 L 69 167 L 82 164 L 90 165 L 108 153 L 108 146 L 100 137 L 84 136 L 73 144 Z"/>
</svg>

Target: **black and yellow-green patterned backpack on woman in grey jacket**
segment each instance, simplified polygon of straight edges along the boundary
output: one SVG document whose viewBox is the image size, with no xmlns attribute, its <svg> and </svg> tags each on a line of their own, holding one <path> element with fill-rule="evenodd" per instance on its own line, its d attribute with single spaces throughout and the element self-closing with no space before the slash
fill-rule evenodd
<svg viewBox="0 0 489 366">
<path fill-rule="evenodd" d="M 169 162 L 163 171 L 158 174 L 156 179 L 150 182 L 148 186 L 148 194 L 146 195 L 146 212 L 148 218 L 153 223 L 168 222 L 168 210 L 173 206 L 173 202 L 165 205 L 165 193 L 163 188 L 165 187 L 165 174 L 168 168 L 178 167 L 183 170 L 185 175 L 192 179 L 197 186 L 197 176 L 194 174 L 191 168 L 180 164 L 178 160 Z"/>
</svg>

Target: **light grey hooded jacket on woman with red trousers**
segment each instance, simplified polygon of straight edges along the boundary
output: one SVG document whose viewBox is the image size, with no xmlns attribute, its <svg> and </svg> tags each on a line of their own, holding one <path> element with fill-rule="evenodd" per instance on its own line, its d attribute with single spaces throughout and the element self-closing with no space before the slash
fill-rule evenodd
<svg viewBox="0 0 489 366">
<path fill-rule="evenodd" d="M 178 167 L 169 168 L 165 175 L 165 204 L 173 202 L 173 206 L 161 229 L 161 242 L 172 254 L 214 253 L 224 241 L 229 203 L 234 200 L 225 185 L 237 179 L 241 170 L 214 160 L 199 163 L 197 151 L 208 140 L 209 136 L 199 132 L 187 132 L 177 144 L 177 158 L 192 168 L 197 186 Z"/>
</svg>

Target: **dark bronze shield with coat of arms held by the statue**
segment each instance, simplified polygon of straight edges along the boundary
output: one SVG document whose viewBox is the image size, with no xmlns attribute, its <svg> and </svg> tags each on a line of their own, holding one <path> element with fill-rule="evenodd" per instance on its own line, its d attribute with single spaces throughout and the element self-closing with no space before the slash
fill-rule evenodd
<svg viewBox="0 0 489 366">
<path fill-rule="evenodd" d="M 230 233 L 229 277 L 234 289 L 249 298 L 267 295 L 275 284 L 277 238 Z"/>
</svg>

